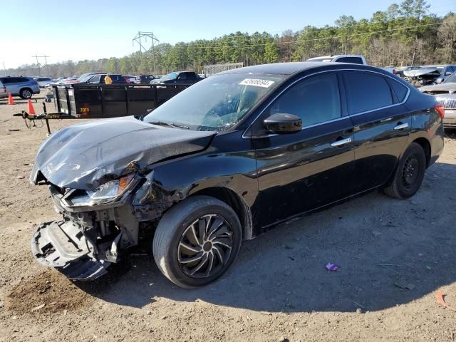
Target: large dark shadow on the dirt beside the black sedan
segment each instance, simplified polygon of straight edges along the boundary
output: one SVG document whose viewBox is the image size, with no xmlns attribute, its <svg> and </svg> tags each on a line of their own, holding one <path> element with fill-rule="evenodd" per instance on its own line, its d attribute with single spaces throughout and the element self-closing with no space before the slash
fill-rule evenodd
<svg viewBox="0 0 456 342">
<path fill-rule="evenodd" d="M 369 195 L 282 224 L 244 242 L 222 279 L 172 284 L 151 254 L 133 254 L 105 278 L 78 284 L 103 301 L 142 308 L 157 297 L 255 311 L 376 311 L 456 281 L 456 165 L 427 170 L 411 199 Z M 327 271 L 334 262 L 339 271 Z"/>
</svg>

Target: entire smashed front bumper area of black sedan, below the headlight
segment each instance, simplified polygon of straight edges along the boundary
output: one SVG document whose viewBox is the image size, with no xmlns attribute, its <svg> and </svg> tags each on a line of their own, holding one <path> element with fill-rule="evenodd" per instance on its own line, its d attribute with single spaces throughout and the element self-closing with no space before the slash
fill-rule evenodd
<svg viewBox="0 0 456 342">
<path fill-rule="evenodd" d="M 103 276 L 110 264 L 120 260 L 123 250 L 138 244 L 140 229 L 153 229 L 153 222 L 171 205 L 135 201 L 129 191 L 116 202 L 72 207 L 68 194 L 73 190 L 59 190 L 55 185 L 49 190 L 63 220 L 46 222 L 36 229 L 31 239 L 33 257 L 76 280 Z"/>
</svg>

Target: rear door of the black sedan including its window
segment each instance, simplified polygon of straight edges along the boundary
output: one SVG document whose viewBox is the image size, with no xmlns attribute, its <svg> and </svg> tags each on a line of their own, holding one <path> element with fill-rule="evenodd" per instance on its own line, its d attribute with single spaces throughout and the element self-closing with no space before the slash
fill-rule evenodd
<svg viewBox="0 0 456 342">
<path fill-rule="evenodd" d="M 356 189 L 383 185 L 408 145 L 411 117 L 403 105 L 410 90 L 370 71 L 343 73 L 355 138 Z"/>
</svg>

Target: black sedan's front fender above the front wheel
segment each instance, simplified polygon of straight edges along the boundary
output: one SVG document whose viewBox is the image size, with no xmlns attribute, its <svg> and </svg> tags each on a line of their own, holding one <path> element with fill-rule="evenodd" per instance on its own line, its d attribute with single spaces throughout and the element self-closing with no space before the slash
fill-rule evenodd
<svg viewBox="0 0 456 342">
<path fill-rule="evenodd" d="M 232 135 L 239 135 L 239 139 Z M 151 165 L 152 171 L 145 175 L 133 205 L 168 204 L 167 209 L 192 195 L 226 190 L 241 207 L 238 215 L 244 223 L 244 239 L 252 239 L 258 222 L 254 215 L 259 197 L 257 160 L 251 140 L 242 139 L 241 135 L 240 131 L 216 135 L 204 152 Z M 227 150 L 227 141 L 237 143 Z M 219 145 L 224 146 L 223 152 Z"/>
</svg>

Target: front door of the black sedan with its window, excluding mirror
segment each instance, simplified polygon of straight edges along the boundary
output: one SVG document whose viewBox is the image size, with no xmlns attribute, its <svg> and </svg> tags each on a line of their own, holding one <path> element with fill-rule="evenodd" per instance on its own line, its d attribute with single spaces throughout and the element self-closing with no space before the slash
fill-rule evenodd
<svg viewBox="0 0 456 342">
<path fill-rule="evenodd" d="M 353 125 L 336 73 L 310 76 L 282 93 L 252 125 L 261 225 L 268 226 L 351 194 Z M 261 132 L 274 113 L 298 115 L 303 129 Z"/>
</svg>

